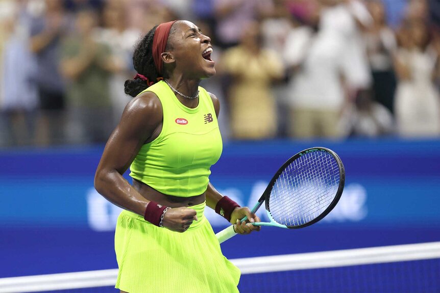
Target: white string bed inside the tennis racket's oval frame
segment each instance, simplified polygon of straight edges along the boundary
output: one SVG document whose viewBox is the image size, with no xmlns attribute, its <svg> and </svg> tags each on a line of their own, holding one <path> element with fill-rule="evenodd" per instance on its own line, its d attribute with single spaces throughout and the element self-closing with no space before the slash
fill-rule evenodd
<svg viewBox="0 0 440 293">
<path fill-rule="evenodd" d="M 314 220 L 333 201 L 339 181 L 339 166 L 330 153 L 304 154 L 275 181 L 269 199 L 272 217 L 286 226 L 300 226 Z"/>
</svg>

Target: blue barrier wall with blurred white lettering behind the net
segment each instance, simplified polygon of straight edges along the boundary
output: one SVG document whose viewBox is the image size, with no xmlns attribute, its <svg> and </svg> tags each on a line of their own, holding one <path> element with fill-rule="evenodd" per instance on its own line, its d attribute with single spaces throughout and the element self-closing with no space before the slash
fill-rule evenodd
<svg viewBox="0 0 440 293">
<path fill-rule="evenodd" d="M 211 182 L 253 205 L 279 166 L 311 146 L 329 147 L 344 162 L 346 188 L 336 208 L 304 229 L 237 236 L 222 245 L 226 256 L 440 240 L 440 141 L 230 143 L 212 167 Z M 102 150 L 0 152 L 0 277 L 116 267 L 113 231 L 120 209 L 93 189 Z M 211 210 L 206 214 L 216 231 L 228 224 Z M 268 241 L 270 252 L 261 249 Z"/>
</svg>

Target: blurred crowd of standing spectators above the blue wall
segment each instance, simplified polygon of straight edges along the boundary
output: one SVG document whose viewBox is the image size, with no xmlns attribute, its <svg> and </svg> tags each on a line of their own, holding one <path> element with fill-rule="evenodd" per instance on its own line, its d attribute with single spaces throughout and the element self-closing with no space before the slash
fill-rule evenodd
<svg viewBox="0 0 440 293">
<path fill-rule="evenodd" d="M 107 141 L 174 19 L 212 39 L 224 139 L 440 136 L 436 0 L 0 0 L 0 147 Z"/>
</svg>

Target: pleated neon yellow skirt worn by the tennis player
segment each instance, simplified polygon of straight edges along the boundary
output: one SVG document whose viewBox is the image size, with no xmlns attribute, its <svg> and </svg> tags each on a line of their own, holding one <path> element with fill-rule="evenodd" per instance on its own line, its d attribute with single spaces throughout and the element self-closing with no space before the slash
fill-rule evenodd
<svg viewBox="0 0 440 293">
<path fill-rule="evenodd" d="M 121 212 L 115 232 L 116 288 L 129 293 L 238 292 L 240 271 L 222 254 L 203 215 L 205 203 L 191 208 L 198 221 L 183 233 Z"/>
</svg>

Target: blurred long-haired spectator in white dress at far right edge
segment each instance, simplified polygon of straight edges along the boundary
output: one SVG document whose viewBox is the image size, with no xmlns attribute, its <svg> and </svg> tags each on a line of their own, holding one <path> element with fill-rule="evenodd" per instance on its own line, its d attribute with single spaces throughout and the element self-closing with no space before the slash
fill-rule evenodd
<svg viewBox="0 0 440 293">
<path fill-rule="evenodd" d="M 438 55 L 431 46 L 426 24 L 407 22 L 400 39 L 402 47 L 395 60 L 399 78 L 395 101 L 398 132 L 403 137 L 438 136 L 440 97 L 433 83 Z"/>
</svg>

